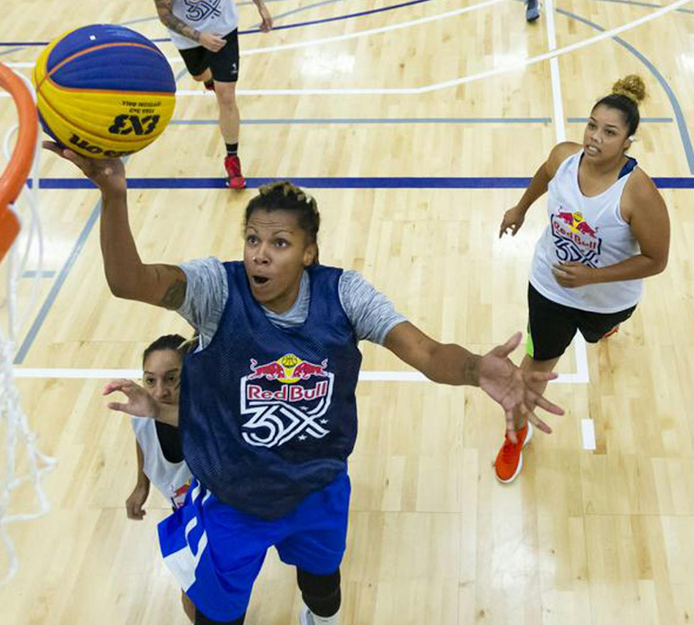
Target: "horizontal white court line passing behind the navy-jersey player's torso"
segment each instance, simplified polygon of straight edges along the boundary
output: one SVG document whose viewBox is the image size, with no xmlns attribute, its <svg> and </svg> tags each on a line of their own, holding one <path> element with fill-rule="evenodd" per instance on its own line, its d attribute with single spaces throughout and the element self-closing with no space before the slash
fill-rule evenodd
<svg viewBox="0 0 694 625">
<path fill-rule="evenodd" d="M 141 369 L 12 369 L 15 378 L 40 378 L 45 380 L 114 380 L 142 378 Z M 362 382 L 428 382 L 428 378 L 418 371 L 359 371 Z M 585 384 L 575 373 L 560 373 L 559 378 L 551 380 L 555 384 Z"/>
</svg>

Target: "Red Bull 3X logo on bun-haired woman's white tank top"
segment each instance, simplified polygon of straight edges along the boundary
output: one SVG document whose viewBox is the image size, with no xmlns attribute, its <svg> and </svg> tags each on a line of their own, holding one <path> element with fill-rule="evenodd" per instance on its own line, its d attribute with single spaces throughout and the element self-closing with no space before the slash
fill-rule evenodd
<svg viewBox="0 0 694 625">
<path fill-rule="evenodd" d="M 591 227 L 579 211 L 565 211 L 562 206 L 559 206 L 557 214 L 552 213 L 550 224 L 555 252 L 560 261 L 598 266 L 602 248 L 598 227 Z"/>
</svg>

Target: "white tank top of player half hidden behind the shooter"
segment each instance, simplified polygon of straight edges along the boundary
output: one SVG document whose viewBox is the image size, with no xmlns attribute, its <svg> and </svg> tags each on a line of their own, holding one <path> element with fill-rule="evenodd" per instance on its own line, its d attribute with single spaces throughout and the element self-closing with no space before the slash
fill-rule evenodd
<svg viewBox="0 0 694 625">
<path fill-rule="evenodd" d="M 192 478 L 188 465 L 185 460 L 169 462 L 164 457 L 154 419 L 133 416 L 130 424 L 144 456 L 144 475 L 175 508 L 180 508 Z"/>
</svg>

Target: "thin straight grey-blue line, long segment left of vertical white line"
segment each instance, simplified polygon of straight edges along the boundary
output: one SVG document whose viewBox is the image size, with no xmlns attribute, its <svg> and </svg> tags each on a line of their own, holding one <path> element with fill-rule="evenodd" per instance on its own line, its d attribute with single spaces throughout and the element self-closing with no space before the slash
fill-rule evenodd
<svg viewBox="0 0 694 625">
<path fill-rule="evenodd" d="M 242 125 L 330 125 L 330 124 L 488 124 L 551 123 L 550 117 L 316 117 L 300 119 L 242 119 Z M 206 126 L 218 119 L 172 119 L 171 125 Z"/>
</svg>

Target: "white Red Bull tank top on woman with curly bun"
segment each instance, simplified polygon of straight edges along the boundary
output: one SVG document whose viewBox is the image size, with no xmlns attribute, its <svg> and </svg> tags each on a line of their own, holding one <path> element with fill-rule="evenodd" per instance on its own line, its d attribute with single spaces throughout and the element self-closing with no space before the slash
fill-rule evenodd
<svg viewBox="0 0 694 625">
<path fill-rule="evenodd" d="M 550 225 L 535 246 L 530 283 L 547 299 L 564 306 L 591 313 L 617 313 L 636 306 L 641 299 L 642 280 L 565 288 L 552 274 L 552 265 L 559 261 L 607 267 L 641 253 L 620 212 L 631 170 L 600 195 L 586 197 L 578 184 L 582 156 L 581 150 L 568 157 L 550 180 L 547 202 Z"/>
</svg>

